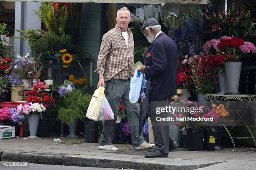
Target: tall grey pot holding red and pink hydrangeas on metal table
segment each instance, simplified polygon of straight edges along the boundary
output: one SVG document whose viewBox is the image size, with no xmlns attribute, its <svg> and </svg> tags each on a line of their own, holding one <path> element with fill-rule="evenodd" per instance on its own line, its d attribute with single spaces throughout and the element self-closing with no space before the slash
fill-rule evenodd
<svg viewBox="0 0 256 170">
<path fill-rule="evenodd" d="M 227 92 L 225 95 L 241 95 L 238 92 L 242 62 L 225 62 Z"/>
</svg>

